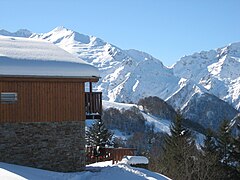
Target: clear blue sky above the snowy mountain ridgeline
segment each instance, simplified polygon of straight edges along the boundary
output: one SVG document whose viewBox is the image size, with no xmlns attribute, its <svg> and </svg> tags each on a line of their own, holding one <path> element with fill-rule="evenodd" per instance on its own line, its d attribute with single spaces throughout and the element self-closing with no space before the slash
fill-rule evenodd
<svg viewBox="0 0 240 180">
<path fill-rule="evenodd" d="M 0 29 L 65 26 L 172 65 L 240 41 L 240 0 L 1 0 Z"/>
</svg>

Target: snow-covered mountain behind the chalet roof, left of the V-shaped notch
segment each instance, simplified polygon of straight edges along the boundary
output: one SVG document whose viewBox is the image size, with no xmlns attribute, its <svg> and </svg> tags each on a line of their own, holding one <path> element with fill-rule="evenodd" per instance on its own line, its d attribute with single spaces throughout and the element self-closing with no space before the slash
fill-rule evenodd
<svg viewBox="0 0 240 180">
<path fill-rule="evenodd" d="M 158 59 L 137 50 L 122 50 L 94 36 L 57 27 L 30 38 L 45 39 L 98 67 L 101 80 L 96 88 L 109 101 L 137 102 L 146 96 L 169 98 L 180 86 L 180 78 Z"/>
</svg>

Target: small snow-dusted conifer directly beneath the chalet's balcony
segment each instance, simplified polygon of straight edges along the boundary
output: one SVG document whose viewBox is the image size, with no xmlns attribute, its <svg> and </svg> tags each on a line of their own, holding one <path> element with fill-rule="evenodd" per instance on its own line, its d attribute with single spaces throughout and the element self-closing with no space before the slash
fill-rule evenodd
<svg viewBox="0 0 240 180">
<path fill-rule="evenodd" d="M 111 145 L 111 140 L 112 133 L 105 127 L 101 119 L 96 120 L 96 122 L 86 130 L 87 145 L 105 147 L 105 145 Z"/>
</svg>

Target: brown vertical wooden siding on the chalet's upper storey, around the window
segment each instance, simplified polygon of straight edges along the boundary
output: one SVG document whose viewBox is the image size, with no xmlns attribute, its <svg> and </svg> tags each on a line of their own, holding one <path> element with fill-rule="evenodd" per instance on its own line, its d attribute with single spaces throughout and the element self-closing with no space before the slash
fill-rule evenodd
<svg viewBox="0 0 240 180">
<path fill-rule="evenodd" d="M 14 104 L 0 103 L 0 122 L 85 120 L 85 80 L 0 78 L 0 92 L 16 92 Z"/>
</svg>

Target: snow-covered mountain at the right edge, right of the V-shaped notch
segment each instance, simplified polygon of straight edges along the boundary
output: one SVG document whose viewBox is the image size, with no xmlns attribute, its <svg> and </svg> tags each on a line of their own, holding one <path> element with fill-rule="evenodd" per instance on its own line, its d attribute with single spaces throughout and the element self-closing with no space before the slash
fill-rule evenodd
<svg viewBox="0 0 240 180">
<path fill-rule="evenodd" d="M 185 56 L 174 65 L 173 71 L 240 108 L 240 43 Z"/>
</svg>

